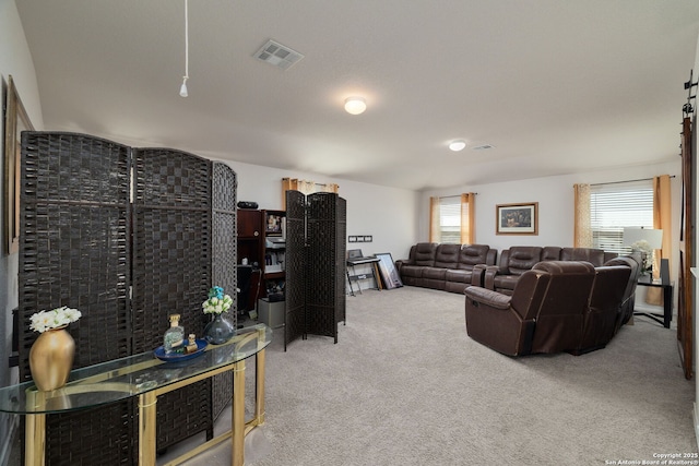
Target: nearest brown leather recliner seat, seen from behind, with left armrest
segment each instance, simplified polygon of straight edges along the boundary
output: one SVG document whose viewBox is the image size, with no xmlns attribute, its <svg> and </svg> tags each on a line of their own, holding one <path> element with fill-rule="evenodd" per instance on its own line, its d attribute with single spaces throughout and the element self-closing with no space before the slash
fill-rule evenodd
<svg viewBox="0 0 699 466">
<path fill-rule="evenodd" d="M 466 332 L 510 356 L 573 350 L 594 277 L 588 262 L 550 261 L 524 272 L 511 296 L 471 286 L 464 291 Z"/>
</svg>

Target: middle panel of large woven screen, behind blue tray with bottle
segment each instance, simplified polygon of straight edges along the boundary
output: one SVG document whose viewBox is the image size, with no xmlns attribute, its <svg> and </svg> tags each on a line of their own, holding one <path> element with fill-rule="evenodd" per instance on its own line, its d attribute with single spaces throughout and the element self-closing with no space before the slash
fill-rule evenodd
<svg viewBox="0 0 699 466">
<path fill-rule="evenodd" d="M 133 350 L 162 345 L 168 315 L 201 335 L 211 287 L 211 163 L 180 151 L 133 151 Z M 201 431 L 213 438 L 211 379 L 157 403 L 157 449 Z"/>
</svg>

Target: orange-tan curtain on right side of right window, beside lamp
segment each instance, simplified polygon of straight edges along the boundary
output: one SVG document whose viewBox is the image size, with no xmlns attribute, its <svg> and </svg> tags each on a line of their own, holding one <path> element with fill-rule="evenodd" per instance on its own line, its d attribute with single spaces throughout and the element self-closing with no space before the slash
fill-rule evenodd
<svg viewBox="0 0 699 466">
<path fill-rule="evenodd" d="M 660 260 L 672 261 L 672 200 L 670 190 L 670 175 L 661 175 L 653 178 L 653 228 L 663 230 L 663 249 L 655 250 L 653 254 L 653 278 L 660 278 Z M 673 264 L 670 263 L 670 270 Z M 645 302 L 655 306 L 663 304 L 662 288 L 648 288 Z"/>
</svg>

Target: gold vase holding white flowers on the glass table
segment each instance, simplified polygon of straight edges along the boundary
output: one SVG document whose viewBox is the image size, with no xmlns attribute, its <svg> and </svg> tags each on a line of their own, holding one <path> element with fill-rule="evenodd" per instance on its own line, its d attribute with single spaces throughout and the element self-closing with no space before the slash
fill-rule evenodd
<svg viewBox="0 0 699 466">
<path fill-rule="evenodd" d="M 50 392 L 68 382 L 75 356 L 75 340 L 66 327 L 81 315 L 79 310 L 66 306 L 32 315 L 29 328 L 40 335 L 29 350 L 29 370 L 40 391 Z"/>
</svg>

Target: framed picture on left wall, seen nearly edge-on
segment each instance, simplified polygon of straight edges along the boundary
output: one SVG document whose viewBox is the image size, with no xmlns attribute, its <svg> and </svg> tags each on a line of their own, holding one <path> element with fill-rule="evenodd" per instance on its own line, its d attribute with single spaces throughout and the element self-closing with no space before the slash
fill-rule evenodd
<svg viewBox="0 0 699 466">
<path fill-rule="evenodd" d="M 22 131 L 34 127 L 26 115 L 22 100 L 8 76 L 7 112 L 4 115 L 4 231 L 3 242 L 8 254 L 20 250 L 20 172 L 22 168 Z"/>
</svg>

